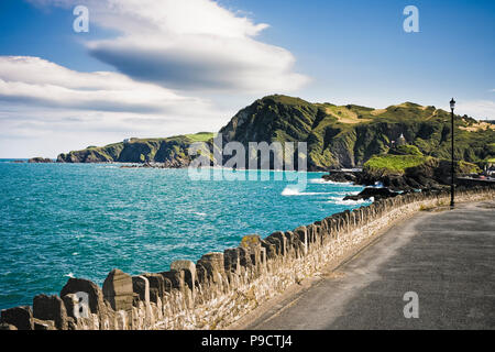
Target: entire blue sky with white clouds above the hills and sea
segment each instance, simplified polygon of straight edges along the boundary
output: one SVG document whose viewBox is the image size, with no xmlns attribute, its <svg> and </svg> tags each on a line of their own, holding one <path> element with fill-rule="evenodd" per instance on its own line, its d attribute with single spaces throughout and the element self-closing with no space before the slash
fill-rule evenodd
<svg viewBox="0 0 495 352">
<path fill-rule="evenodd" d="M 89 32 L 74 31 L 77 6 Z M 492 0 L 1 0 L 0 158 L 218 131 L 272 94 L 454 97 L 457 113 L 495 120 L 494 38 Z"/>
</svg>

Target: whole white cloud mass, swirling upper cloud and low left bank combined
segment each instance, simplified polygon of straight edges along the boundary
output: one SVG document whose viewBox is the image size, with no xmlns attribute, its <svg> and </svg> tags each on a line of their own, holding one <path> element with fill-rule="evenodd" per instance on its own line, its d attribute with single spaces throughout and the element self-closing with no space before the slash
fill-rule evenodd
<svg viewBox="0 0 495 352">
<path fill-rule="evenodd" d="M 267 24 L 211 0 L 26 1 L 64 7 L 69 15 L 87 6 L 91 32 L 118 33 L 86 43 L 88 51 L 119 73 L 0 56 L 0 157 L 54 157 L 129 136 L 217 131 L 254 97 L 308 81 L 294 72 L 290 52 L 256 37 Z"/>
</svg>

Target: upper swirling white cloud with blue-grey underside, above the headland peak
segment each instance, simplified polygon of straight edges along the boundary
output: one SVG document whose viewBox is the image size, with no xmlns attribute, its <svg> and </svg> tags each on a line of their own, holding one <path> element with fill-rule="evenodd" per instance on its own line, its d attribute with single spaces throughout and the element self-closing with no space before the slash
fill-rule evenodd
<svg viewBox="0 0 495 352">
<path fill-rule="evenodd" d="M 133 78 L 201 91 L 292 91 L 308 77 L 294 55 L 255 37 L 267 24 L 237 16 L 211 0 L 31 0 L 86 4 L 91 24 L 120 36 L 88 43 L 95 57 Z"/>
</svg>

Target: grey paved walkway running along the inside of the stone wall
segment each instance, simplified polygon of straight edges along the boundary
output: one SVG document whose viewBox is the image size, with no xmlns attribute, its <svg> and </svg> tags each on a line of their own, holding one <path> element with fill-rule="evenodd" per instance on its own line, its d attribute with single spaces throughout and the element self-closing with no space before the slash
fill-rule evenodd
<svg viewBox="0 0 495 352">
<path fill-rule="evenodd" d="M 495 329 L 495 201 L 419 212 L 248 328 Z"/>
</svg>

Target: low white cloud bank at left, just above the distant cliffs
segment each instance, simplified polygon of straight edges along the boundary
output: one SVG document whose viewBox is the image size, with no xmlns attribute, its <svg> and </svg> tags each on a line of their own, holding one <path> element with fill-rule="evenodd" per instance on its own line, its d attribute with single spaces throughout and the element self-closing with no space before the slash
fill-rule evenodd
<svg viewBox="0 0 495 352">
<path fill-rule="evenodd" d="M 122 74 L 79 73 L 30 56 L 0 56 L 0 157 L 216 131 L 233 114 Z"/>
</svg>

